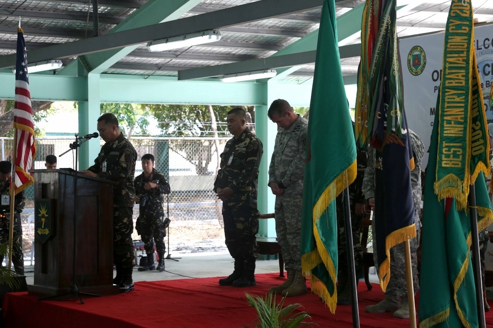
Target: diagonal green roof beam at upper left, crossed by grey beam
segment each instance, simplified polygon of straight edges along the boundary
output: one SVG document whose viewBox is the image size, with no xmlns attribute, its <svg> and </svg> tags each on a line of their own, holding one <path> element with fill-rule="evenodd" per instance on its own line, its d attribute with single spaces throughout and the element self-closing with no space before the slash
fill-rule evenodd
<svg viewBox="0 0 493 328">
<path fill-rule="evenodd" d="M 179 19 L 200 2 L 201 0 L 150 0 L 123 22 L 115 26 L 108 34 Z M 101 74 L 139 46 L 132 45 L 120 49 L 83 55 L 79 59 L 88 71 Z M 65 72 L 62 70 L 59 74 L 65 74 Z"/>
</svg>

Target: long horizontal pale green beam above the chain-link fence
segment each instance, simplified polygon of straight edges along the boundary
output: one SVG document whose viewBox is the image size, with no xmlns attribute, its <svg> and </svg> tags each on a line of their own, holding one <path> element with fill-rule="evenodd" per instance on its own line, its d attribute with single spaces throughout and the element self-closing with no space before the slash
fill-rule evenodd
<svg viewBox="0 0 493 328">
<path fill-rule="evenodd" d="M 177 81 L 173 77 L 101 74 L 101 102 L 262 105 L 263 83 L 223 83 L 217 81 Z M 29 75 L 33 100 L 88 100 L 85 76 Z M 0 99 L 13 99 L 14 74 L 0 73 Z M 287 86 L 286 90 L 296 93 Z M 287 91 L 287 92 L 289 92 Z M 305 94 L 305 93 L 302 93 Z M 286 96 L 287 97 L 287 96 Z"/>
</svg>

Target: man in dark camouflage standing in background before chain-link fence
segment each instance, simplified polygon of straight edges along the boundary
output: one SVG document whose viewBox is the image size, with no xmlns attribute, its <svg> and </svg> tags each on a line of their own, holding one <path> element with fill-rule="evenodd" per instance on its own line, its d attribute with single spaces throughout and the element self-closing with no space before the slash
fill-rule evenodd
<svg viewBox="0 0 493 328">
<path fill-rule="evenodd" d="M 135 229 L 141 235 L 146 250 L 147 262 L 139 267 L 139 271 L 154 270 L 154 242 L 156 244 L 159 261 L 158 271 L 164 271 L 164 194 L 170 193 L 169 183 L 154 168 L 154 156 L 146 154 L 142 156 L 142 169 L 144 172 L 134 180 L 135 201 L 139 206 L 139 217 L 135 223 Z"/>
</svg>

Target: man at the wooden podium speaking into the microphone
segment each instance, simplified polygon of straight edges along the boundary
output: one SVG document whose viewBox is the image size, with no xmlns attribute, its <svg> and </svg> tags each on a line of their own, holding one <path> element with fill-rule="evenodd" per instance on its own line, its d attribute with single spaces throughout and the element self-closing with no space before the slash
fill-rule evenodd
<svg viewBox="0 0 493 328">
<path fill-rule="evenodd" d="M 119 286 L 120 293 L 126 293 L 134 290 L 132 216 L 137 152 L 120 132 L 118 120 L 113 114 L 106 113 L 98 118 L 98 131 L 106 143 L 101 147 L 94 165 L 81 173 L 118 182 L 113 186 L 113 261 L 116 266 L 113 283 Z"/>
</svg>

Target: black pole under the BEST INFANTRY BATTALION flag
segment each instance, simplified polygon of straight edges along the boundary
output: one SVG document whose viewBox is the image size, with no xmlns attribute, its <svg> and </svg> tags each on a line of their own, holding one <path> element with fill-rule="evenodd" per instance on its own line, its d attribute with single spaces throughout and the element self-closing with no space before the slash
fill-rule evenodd
<svg viewBox="0 0 493 328">
<path fill-rule="evenodd" d="M 483 284 L 481 278 L 481 264 L 479 259 L 479 236 L 478 236 L 478 211 L 476 207 L 475 184 L 469 187 L 469 213 L 471 214 L 471 238 L 474 282 L 476 284 L 476 301 L 478 303 L 478 324 L 479 327 L 486 328 L 485 304 L 483 303 Z"/>
</svg>

